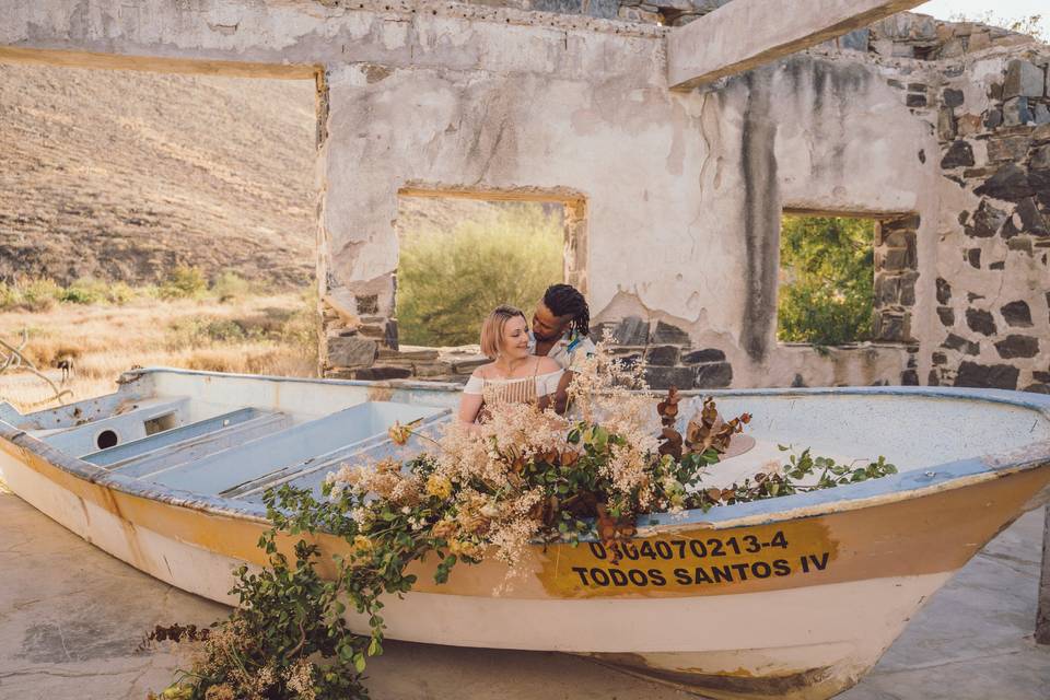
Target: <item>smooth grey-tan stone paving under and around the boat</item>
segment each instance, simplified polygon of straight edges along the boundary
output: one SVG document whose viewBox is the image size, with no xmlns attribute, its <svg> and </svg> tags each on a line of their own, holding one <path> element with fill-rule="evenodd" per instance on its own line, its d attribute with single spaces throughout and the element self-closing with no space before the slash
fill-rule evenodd
<svg viewBox="0 0 1050 700">
<path fill-rule="evenodd" d="M 222 606 L 135 571 L 0 489 L 0 700 L 143 699 L 178 658 L 137 651 L 153 625 L 207 625 Z M 1031 641 L 1042 514 L 989 545 L 843 700 L 1036 700 L 1050 646 Z M 863 602 L 859 602 L 859 605 Z M 389 642 L 375 700 L 686 699 L 679 690 L 555 653 Z"/>
</svg>

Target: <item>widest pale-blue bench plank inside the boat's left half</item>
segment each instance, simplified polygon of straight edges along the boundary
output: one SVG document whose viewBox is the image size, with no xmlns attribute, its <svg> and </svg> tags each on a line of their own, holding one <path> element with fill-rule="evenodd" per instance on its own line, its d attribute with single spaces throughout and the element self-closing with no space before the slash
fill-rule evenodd
<svg viewBox="0 0 1050 700">
<path fill-rule="evenodd" d="M 412 404 L 366 401 L 141 478 L 174 489 L 217 495 L 311 456 L 385 433 L 395 420 L 407 423 L 441 410 Z"/>
</svg>

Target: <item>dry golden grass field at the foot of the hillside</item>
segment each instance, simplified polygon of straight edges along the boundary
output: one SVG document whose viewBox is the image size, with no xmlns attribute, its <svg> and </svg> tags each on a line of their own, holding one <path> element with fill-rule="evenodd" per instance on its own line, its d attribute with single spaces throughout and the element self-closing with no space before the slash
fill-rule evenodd
<svg viewBox="0 0 1050 700">
<path fill-rule="evenodd" d="M 24 354 L 56 383 L 59 360 L 72 360 L 61 385 L 80 400 L 116 389 L 132 366 L 313 376 L 316 374 L 314 304 L 302 293 L 158 300 L 122 305 L 55 304 L 47 311 L 0 313 L 0 338 L 11 345 L 28 330 Z M 57 406 L 48 385 L 30 372 L 0 374 L 0 399 L 24 411 Z"/>
</svg>

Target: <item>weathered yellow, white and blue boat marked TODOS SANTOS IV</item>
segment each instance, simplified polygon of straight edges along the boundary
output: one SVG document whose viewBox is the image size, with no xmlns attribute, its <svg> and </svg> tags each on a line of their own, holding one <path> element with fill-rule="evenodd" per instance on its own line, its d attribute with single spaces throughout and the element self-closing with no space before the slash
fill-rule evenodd
<svg viewBox="0 0 1050 700">
<path fill-rule="evenodd" d="M 262 493 L 319 493 L 341 464 L 418 450 L 452 384 L 144 369 L 107 396 L 22 415 L 0 405 L 0 478 L 101 549 L 178 588 L 234 604 L 232 571 L 265 563 Z M 887 477 L 684 514 L 643 515 L 614 561 L 597 541 L 539 545 L 524 576 L 424 560 L 386 602 L 390 639 L 582 654 L 716 699 L 829 698 L 854 685 L 918 608 L 1023 512 L 1050 499 L 1050 396 L 937 387 L 707 392 L 747 411 L 755 445 L 897 465 Z M 685 410 L 701 400 L 682 392 Z M 399 452 L 401 451 L 401 452 Z M 318 535 L 325 552 L 348 545 Z M 287 544 L 287 542 L 285 542 Z M 363 619 L 350 619 L 358 631 Z"/>
</svg>

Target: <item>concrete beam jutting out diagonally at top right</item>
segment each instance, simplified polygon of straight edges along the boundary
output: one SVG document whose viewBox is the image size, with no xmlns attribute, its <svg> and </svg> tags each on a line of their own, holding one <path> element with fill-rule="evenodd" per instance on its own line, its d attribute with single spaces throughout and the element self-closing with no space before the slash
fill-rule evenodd
<svg viewBox="0 0 1050 700">
<path fill-rule="evenodd" d="M 923 0 L 733 0 L 667 37 L 667 84 L 691 90 L 910 10 Z"/>
</svg>

